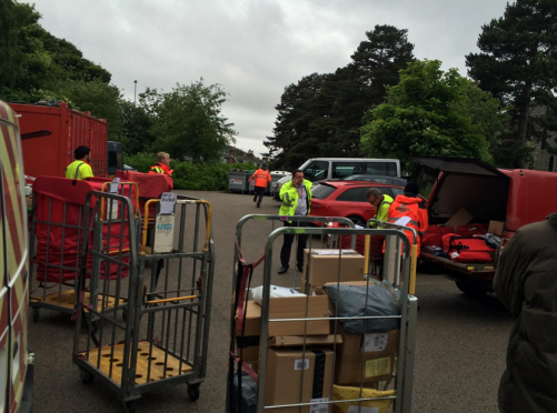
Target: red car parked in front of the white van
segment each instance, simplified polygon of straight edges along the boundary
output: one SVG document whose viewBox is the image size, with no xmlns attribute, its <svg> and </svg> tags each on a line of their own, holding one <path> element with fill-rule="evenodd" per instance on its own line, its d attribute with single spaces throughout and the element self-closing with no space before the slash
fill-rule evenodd
<svg viewBox="0 0 557 413">
<path fill-rule="evenodd" d="M 310 216 L 345 216 L 354 223 L 366 226 L 375 216 L 375 206 L 366 194 L 371 188 L 377 188 L 382 194 L 395 199 L 404 193 L 402 187 L 389 185 L 369 181 L 329 181 L 311 189 Z M 420 197 L 421 198 L 421 197 Z"/>
</svg>

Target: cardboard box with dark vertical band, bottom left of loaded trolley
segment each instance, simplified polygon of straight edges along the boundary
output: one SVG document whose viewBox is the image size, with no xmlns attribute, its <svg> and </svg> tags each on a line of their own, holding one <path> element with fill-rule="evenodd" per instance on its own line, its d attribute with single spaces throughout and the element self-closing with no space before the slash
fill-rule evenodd
<svg viewBox="0 0 557 413">
<path fill-rule="evenodd" d="M 265 405 L 297 404 L 300 403 L 300 395 L 302 403 L 311 403 L 316 399 L 329 401 L 332 387 L 332 357 L 334 353 L 328 349 L 306 350 L 306 354 L 301 349 L 269 349 Z M 299 407 L 281 407 L 269 411 L 309 413 L 310 406 L 304 406 L 301 410 Z M 316 411 L 315 407 L 312 411 Z M 330 411 L 330 409 L 326 411 Z"/>
</svg>

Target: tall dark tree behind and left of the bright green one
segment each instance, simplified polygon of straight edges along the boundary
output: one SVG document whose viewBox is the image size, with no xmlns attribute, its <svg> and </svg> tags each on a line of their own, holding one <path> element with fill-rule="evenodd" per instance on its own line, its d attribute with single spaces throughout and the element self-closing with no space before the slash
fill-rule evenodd
<svg viewBox="0 0 557 413">
<path fill-rule="evenodd" d="M 366 37 L 348 66 L 285 89 L 275 137 L 263 142 L 269 154 L 278 153 L 275 164 L 291 169 L 311 157 L 360 153 L 364 113 L 382 101 L 386 87 L 396 84 L 398 71 L 414 60 L 407 30 L 376 26 Z"/>
</svg>

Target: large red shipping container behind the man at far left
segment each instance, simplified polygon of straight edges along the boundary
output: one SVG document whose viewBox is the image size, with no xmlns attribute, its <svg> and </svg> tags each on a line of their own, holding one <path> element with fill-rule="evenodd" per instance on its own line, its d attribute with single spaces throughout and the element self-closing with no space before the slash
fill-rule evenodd
<svg viewBox="0 0 557 413">
<path fill-rule="evenodd" d="M 107 177 L 108 125 L 89 112 L 59 107 L 10 103 L 20 115 L 21 145 L 26 175 L 63 177 L 80 145 L 91 149 L 96 177 Z"/>
</svg>

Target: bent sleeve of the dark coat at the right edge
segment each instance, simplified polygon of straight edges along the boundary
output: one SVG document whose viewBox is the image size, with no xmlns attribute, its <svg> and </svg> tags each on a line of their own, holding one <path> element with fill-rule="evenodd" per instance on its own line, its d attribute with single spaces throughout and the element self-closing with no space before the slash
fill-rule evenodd
<svg viewBox="0 0 557 413">
<path fill-rule="evenodd" d="M 523 238 L 518 231 L 504 246 L 494 279 L 495 293 L 515 316 L 520 314 L 523 308 L 528 262 Z"/>
</svg>

